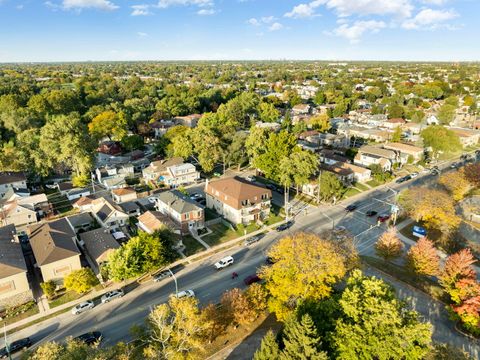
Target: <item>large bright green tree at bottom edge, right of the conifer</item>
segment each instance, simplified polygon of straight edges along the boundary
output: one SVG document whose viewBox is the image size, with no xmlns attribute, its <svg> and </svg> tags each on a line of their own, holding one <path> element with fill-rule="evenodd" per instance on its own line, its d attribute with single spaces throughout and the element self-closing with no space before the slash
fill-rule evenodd
<svg viewBox="0 0 480 360">
<path fill-rule="evenodd" d="M 394 290 L 355 270 L 340 300 L 332 333 L 337 359 L 424 359 L 432 329 L 395 298 Z"/>
</svg>

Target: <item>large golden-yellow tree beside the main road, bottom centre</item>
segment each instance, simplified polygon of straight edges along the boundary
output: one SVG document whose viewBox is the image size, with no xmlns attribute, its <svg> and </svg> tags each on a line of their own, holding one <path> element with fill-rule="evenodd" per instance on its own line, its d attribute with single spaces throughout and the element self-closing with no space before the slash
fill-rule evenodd
<svg viewBox="0 0 480 360">
<path fill-rule="evenodd" d="M 299 300 L 328 297 L 348 268 L 344 251 L 314 234 L 298 233 L 275 244 L 268 253 L 272 266 L 261 269 L 270 293 L 268 305 L 285 320 Z"/>
</svg>

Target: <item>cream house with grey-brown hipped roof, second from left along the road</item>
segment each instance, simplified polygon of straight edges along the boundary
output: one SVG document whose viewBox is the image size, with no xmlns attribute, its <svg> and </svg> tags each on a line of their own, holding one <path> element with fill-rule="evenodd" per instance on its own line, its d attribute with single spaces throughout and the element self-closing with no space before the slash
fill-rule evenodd
<svg viewBox="0 0 480 360">
<path fill-rule="evenodd" d="M 75 232 L 67 219 L 31 225 L 30 245 L 43 281 L 63 283 L 63 278 L 82 268 Z"/>
</svg>

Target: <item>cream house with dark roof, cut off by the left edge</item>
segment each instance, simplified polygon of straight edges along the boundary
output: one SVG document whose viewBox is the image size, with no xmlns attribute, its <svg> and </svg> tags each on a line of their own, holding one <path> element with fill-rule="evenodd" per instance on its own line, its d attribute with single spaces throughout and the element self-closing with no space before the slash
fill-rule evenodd
<svg viewBox="0 0 480 360">
<path fill-rule="evenodd" d="M 12 307 L 33 299 L 27 265 L 15 226 L 0 227 L 0 307 Z"/>
</svg>

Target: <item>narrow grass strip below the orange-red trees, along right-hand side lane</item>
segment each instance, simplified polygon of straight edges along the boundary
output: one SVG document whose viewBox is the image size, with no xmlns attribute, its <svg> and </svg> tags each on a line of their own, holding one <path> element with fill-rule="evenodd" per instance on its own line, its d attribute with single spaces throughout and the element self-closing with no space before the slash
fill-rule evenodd
<svg viewBox="0 0 480 360">
<path fill-rule="evenodd" d="M 368 265 L 375 267 L 390 276 L 397 278 L 407 284 L 422 290 L 434 299 L 447 302 L 443 289 L 436 281 L 427 277 L 417 277 L 409 272 L 405 267 L 385 261 L 372 256 L 361 255 L 361 260 Z"/>
</svg>

